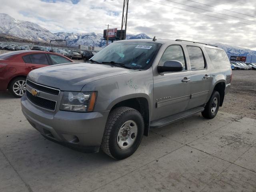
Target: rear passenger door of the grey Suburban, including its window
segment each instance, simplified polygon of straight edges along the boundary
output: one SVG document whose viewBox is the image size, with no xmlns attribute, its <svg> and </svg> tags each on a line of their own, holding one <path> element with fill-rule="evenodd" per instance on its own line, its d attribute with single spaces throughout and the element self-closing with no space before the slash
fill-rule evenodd
<svg viewBox="0 0 256 192">
<path fill-rule="evenodd" d="M 191 96 L 188 103 L 188 109 L 191 109 L 206 103 L 213 78 L 202 49 L 198 46 L 186 46 L 186 48 L 191 66 Z"/>
</svg>

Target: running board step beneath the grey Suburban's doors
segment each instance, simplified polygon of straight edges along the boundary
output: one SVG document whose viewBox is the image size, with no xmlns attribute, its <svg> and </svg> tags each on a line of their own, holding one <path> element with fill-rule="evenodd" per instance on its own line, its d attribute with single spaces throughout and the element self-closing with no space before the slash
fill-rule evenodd
<svg viewBox="0 0 256 192">
<path fill-rule="evenodd" d="M 184 112 L 180 112 L 180 113 L 177 113 L 177 114 L 174 114 L 174 115 L 171 115 L 171 116 L 159 119 L 159 120 L 152 121 L 152 122 L 150 122 L 150 127 L 151 128 L 159 128 L 162 126 L 166 126 L 174 121 L 186 118 L 186 117 L 191 116 L 198 112 L 202 112 L 203 110 L 204 110 L 204 107 L 202 107 L 202 106 L 192 108 L 192 109 L 186 110 Z"/>
</svg>

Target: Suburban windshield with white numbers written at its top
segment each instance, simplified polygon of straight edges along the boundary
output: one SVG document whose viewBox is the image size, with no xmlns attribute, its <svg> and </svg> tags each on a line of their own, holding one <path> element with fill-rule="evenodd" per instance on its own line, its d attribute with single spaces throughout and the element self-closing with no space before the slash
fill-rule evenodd
<svg viewBox="0 0 256 192">
<path fill-rule="evenodd" d="M 91 59 L 100 63 L 122 63 L 126 68 L 148 69 L 161 45 L 155 42 L 115 42 Z"/>
</svg>

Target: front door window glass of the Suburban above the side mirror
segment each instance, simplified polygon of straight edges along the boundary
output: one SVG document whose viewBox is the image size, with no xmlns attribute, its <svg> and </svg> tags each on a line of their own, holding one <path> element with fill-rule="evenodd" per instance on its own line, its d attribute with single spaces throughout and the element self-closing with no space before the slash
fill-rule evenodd
<svg viewBox="0 0 256 192">
<path fill-rule="evenodd" d="M 183 71 L 187 69 L 185 58 L 183 54 L 182 47 L 179 45 L 171 45 L 164 51 L 164 54 L 162 55 L 159 65 L 163 66 L 164 62 L 176 60 L 183 64 Z"/>
</svg>

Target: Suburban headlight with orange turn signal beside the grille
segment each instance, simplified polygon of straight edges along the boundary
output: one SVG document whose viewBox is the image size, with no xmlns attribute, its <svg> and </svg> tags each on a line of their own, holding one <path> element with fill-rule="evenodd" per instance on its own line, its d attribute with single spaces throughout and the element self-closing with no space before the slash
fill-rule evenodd
<svg viewBox="0 0 256 192">
<path fill-rule="evenodd" d="M 60 110 L 74 112 L 92 112 L 96 102 L 97 92 L 65 91 L 60 103 Z"/>
</svg>

